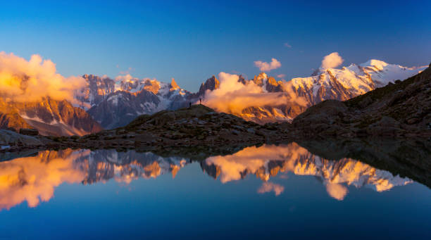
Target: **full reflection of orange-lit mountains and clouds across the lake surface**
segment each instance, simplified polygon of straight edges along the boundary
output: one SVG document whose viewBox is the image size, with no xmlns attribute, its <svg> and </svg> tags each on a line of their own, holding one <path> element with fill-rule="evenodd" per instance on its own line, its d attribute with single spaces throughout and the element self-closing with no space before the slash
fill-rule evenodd
<svg viewBox="0 0 431 240">
<path fill-rule="evenodd" d="M 139 177 L 156 178 L 169 172 L 175 178 L 177 172 L 192 161 L 136 151 L 41 151 L 37 156 L 0 162 L 0 209 L 9 209 L 23 201 L 35 207 L 40 201 L 49 201 L 54 189 L 63 182 L 93 184 L 115 179 L 129 184 Z M 263 181 L 257 193 L 273 191 L 275 196 L 282 194 L 284 187 L 270 182 L 270 178 L 276 175 L 287 178 L 288 172 L 318 177 L 327 194 L 338 200 L 348 194 L 348 185 L 387 191 L 413 182 L 358 160 L 327 160 L 296 143 L 251 146 L 232 155 L 211 156 L 199 162 L 204 172 L 222 183 L 256 175 Z"/>
</svg>

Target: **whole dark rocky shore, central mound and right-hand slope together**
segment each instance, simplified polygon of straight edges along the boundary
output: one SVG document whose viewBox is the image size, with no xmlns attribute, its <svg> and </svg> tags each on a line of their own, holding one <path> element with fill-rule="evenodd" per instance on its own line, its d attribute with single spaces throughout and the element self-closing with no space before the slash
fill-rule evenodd
<svg viewBox="0 0 431 240">
<path fill-rule="evenodd" d="M 140 115 L 125 127 L 84 137 L 46 138 L 46 147 L 249 146 L 316 137 L 431 137 L 431 68 L 347 101 L 326 100 L 292 124 L 258 125 L 196 104 Z M 20 148 L 16 146 L 15 148 Z"/>
</svg>

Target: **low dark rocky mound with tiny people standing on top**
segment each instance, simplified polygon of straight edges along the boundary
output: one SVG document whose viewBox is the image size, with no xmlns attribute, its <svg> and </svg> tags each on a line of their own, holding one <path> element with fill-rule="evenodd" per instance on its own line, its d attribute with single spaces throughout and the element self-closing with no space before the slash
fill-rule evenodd
<svg viewBox="0 0 431 240">
<path fill-rule="evenodd" d="M 154 115 L 141 115 L 129 125 L 104 130 L 83 137 L 35 136 L 42 146 L 21 141 L 0 141 L 7 151 L 31 149 L 160 149 L 175 146 L 250 146 L 263 142 L 286 141 L 287 129 L 282 125 L 258 125 L 235 115 L 216 113 L 204 105 L 179 110 L 163 110 Z M 16 139 L 16 138 L 15 138 Z M 1 140 L 1 139 L 0 139 Z"/>
</svg>

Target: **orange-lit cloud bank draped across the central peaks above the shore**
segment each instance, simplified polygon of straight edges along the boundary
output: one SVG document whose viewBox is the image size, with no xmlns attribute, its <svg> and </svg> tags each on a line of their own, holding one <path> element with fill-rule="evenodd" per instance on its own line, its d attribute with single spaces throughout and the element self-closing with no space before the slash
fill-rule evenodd
<svg viewBox="0 0 431 240">
<path fill-rule="evenodd" d="M 220 72 L 218 77 L 220 87 L 206 92 L 204 104 L 220 112 L 240 115 L 244 108 L 280 106 L 291 99 L 287 92 L 264 92 L 253 81 L 242 84 L 238 75 Z"/>
</svg>

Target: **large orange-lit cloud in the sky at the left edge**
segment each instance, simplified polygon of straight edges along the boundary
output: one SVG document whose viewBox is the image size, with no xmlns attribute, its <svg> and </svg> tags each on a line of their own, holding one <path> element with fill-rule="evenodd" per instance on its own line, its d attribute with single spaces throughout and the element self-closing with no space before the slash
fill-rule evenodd
<svg viewBox="0 0 431 240">
<path fill-rule="evenodd" d="M 82 77 L 63 77 L 51 60 L 32 55 L 30 61 L 0 52 L 0 96 L 6 101 L 39 101 L 49 96 L 74 102 L 76 89 L 85 87 Z"/>
</svg>

